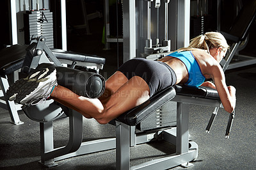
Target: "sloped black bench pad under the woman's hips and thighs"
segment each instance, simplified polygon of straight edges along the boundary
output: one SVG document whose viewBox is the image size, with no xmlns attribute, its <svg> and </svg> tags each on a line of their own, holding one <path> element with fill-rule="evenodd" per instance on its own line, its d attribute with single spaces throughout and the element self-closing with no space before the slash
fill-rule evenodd
<svg viewBox="0 0 256 170">
<path fill-rule="evenodd" d="M 138 107 L 134 107 L 134 109 L 125 112 L 116 118 L 116 120 L 130 126 L 138 125 L 138 123 L 147 118 L 152 112 L 156 111 L 156 109 L 166 104 L 166 102 L 172 100 L 175 95 L 175 89 L 172 86 L 166 88 L 153 95 L 150 99 Z"/>
</svg>

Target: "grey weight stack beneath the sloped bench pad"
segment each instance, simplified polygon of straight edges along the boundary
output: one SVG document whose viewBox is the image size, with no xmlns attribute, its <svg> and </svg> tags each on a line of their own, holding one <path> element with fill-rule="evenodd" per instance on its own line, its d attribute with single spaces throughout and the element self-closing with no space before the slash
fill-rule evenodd
<svg viewBox="0 0 256 170">
<path fill-rule="evenodd" d="M 141 131 L 156 128 L 174 127 L 177 125 L 177 103 L 167 102 L 141 121 L 136 128 Z"/>
</svg>

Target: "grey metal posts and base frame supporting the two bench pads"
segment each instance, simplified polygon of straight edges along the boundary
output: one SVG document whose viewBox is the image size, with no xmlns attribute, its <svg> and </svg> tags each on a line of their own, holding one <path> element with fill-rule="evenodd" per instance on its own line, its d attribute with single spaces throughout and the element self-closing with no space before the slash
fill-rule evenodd
<svg viewBox="0 0 256 170">
<path fill-rule="evenodd" d="M 198 145 L 190 141 L 188 134 L 189 105 L 177 104 L 177 128 L 161 130 L 152 134 L 157 138 L 162 136 L 163 140 L 176 145 L 176 153 L 144 162 L 136 166 L 130 166 L 130 146 L 132 135 L 130 128 L 124 123 L 116 125 L 116 169 L 169 169 L 171 167 L 188 164 L 198 156 Z M 131 136 L 130 136 L 131 135 Z M 148 142 L 148 134 L 136 135 L 133 139 L 140 139 L 139 143 Z M 144 139 L 144 140 L 141 140 Z M 137 141 L 133 141 L 137 143 Z M 189 147 L 189 144 L 191 145 Z"/>
</svg>

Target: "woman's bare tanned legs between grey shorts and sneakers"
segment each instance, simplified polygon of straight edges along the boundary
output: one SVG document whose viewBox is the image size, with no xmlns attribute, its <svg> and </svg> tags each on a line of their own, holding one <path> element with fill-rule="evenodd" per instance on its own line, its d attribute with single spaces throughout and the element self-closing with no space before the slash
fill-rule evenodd
<svg viewBox="0 0 256 170">
<path fill-rule="evenodd" d="M 117 73 L 115 76 L 118 76 L 116 79 L 119 81 L 109 79 L 106 89 L 109 89 L 112 95 L 104 98 L 104 102 L 100 102 L 99 99 L 80 97 L 63 86 L 56 86 L 51 97 L 60 103 L 68 104 L 68 107 L 76 109 L 85 117 L 90 116 L 99 123 L 106 124 L 150 97 L 148 84 L 141 77 L 134 76 L 129 81 L 125 81 L 127 78 L 124 74 Z M 120 84 L 122 86 L 119 86 Z"/>
</svg>

